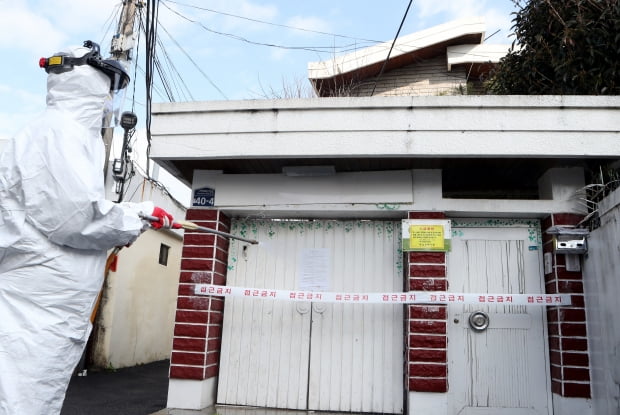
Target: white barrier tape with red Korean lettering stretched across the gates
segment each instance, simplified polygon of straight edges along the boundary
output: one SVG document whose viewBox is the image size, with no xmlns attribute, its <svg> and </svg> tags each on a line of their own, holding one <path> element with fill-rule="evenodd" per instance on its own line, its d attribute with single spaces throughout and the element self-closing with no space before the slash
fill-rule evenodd
<svg viewBox="0 0 620 415">
<path fill-rule="evenodd" d="M 570 294 L 489 294 L 448 293 L 443 291 L 408 291 L 396 293 L 346 293 L 303 290 L 275 290 L 269 288 L 230 287 L 196 284 L 196 295 L 256 298 L 263 300 L 313 301 L 350 304 L 481 304 L 570 306 Z"/>
</svg>

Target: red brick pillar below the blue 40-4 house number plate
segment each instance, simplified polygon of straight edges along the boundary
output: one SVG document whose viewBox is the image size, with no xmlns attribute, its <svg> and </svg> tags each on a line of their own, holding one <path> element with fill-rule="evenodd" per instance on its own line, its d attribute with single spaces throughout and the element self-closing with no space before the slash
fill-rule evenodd
<svg viewBox="0 0 620 415">
<path fill-rule="evenodd" d="M 230 220 L 218 210 L 190 209 L 187 220 L 229 232 Z M 185 231 L 174 325 L 170 377 L 203 380 L 217 376 L 224 299 L 194 294 L 196 284 L 226 284 L 228 239 Z"/>
</svg>

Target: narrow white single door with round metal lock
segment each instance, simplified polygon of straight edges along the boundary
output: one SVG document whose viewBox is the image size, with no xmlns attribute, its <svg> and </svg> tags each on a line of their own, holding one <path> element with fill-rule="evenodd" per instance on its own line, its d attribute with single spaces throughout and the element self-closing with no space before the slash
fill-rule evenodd
<svg viewBox="0 0 620 415">
<path fill-rule="evenodd" d="M 450 291 L 544 293 L 537 221 L 453 221 L 452 229 Z M 486 330 L 470 325 L 478 311 Z M 450 305 L 448 325 L 450 414 L 552 413 L 544 307 L 505 298 Z"/>
</svg>

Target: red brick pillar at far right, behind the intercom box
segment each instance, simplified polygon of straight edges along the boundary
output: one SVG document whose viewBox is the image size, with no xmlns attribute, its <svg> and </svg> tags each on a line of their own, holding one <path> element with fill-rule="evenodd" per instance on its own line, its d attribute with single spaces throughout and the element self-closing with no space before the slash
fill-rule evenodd
<svg viewBox="0 0 620 415">
<path fill-rule="evenodd" d="M 590 398 L 590 360 L 586 330 L 586 310 L 581 271 L 566 270 L 564 254 L 553 250 L 551 226 L 575 225 L 582 216 L 553 214 L 543 221 L 543 252 L 551 253 L 551 272 L 545 271 L 547 294 L 573 294 L 571 307 L 547 307 L 551 390 L 567 398 Z"/>
</svg>

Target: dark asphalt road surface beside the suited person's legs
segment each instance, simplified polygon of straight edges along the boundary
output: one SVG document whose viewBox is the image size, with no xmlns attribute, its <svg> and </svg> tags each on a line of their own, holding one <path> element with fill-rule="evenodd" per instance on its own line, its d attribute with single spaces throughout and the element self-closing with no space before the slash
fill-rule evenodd
<svg viewBox="0 0 620 415">
<path fill-rule="evenodd" d="M 166 407 L 169 360 L 73 376 L 61 415 L 149 415 Z"/>
</svg>

